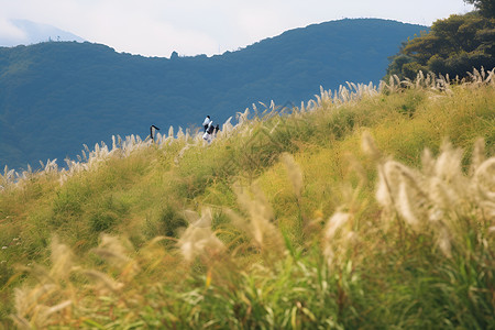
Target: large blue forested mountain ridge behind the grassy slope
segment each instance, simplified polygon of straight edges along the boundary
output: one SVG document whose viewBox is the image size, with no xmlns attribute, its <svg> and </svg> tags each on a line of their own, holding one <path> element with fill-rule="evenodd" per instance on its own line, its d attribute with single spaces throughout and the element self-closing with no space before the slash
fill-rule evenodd
<svg viewBox="0 0 495 330">
<path fill-rule="evenodd" d="M 143 57 L 99 44 L 0 47 L 0 168 L 75 158 L 151 124 L 222 123 L 253 102 L 300 105 L 345 81 L 378 82 L 388 56 L 428 28 L 377 19 L 287 31 L 238 52 Z M 63 162 L 59 162 L 63 164 Z"/>
</svg>

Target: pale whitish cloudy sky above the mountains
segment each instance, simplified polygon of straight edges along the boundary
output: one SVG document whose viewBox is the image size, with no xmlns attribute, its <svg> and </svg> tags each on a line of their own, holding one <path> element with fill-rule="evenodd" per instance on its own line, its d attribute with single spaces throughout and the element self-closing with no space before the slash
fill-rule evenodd
<svg viewBox="0 0 495 330">
<path fill-rule="evenodd" d="M 0 0 L 0 36 L 22 37 L 10 21 L 21 19 L 117 52 L 211 56 L 327 21 L 377 18 L 430 26 L 471 10 L 463 0 Z"/>
</svg>

